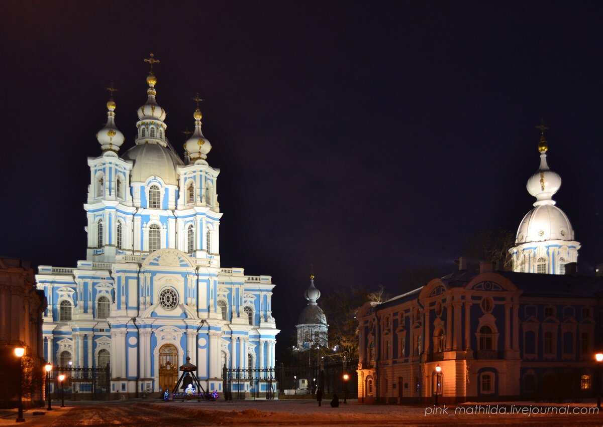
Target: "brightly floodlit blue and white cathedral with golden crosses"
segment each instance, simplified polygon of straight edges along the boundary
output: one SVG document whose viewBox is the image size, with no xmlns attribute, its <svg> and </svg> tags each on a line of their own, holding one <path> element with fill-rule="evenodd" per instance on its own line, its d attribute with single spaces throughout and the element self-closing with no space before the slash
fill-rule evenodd
<svg viewBox="0 0 603 427">
<path fill-rule="evenodd" d="M 87 253 L 75 268 L 40 266 L 45 358 L 54 366 L 110 366 L 110 391 L 171 390 L 186 357 L 206 390 L 221 390 L 223 367 L 274 367 L 276 323 L 271 276 L 223 268 L 219 255 L 219 169 L 212 145 L 195 131 L 185 160 L 166 138 L 166 112 L 156 101 L 153 58 L 147 101 L 137 110 L 135 145 L 120 155 L 124 135 L 107 102 L 88 158 Z M 262 381 L 245 391 L 265 391 Z M 259 387 L 259 390 L 254 389 Z"/>
</svg>

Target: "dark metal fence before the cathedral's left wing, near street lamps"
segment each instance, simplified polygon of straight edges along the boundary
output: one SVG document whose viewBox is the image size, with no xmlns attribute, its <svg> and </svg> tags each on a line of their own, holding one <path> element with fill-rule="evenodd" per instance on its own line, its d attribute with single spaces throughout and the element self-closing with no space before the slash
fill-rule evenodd
<svg viewBox="0 0 603 427">
<path fill-rule="evenodd" d="M 65 375 L 58 381 L 59 375 Z M 104 368 L 54 367 L 49 373 L 52 399 L 70 401 L 106 399 L 111 392 L 111 371 Z"/>
</svg>

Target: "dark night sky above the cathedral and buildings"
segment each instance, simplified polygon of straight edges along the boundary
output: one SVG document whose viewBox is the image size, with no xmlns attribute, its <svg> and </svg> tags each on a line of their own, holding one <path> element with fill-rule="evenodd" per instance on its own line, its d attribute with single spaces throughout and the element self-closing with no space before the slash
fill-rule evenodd
<svg viewBox="0 0 603 427">
<path fill-rule="evenodd" d="M 95 5 L 98 5 L 96 7 Z M 333 288 L 404 289 L 452 270 L 466 238 L 515 231 L 551 127 L 555 196 L 603 261 L 601 2 L 2 3 L 0 254 L 86 256 L 87 157 L 101 154 L 113 81 L 122 152 L 154 52 L 180 152 L 196 92 L 221 169 L 223 266 L 273 276 L 285 342 L 310 265 Z M 320 300 L 319 300 L 320 303 Z"/>
</svg>

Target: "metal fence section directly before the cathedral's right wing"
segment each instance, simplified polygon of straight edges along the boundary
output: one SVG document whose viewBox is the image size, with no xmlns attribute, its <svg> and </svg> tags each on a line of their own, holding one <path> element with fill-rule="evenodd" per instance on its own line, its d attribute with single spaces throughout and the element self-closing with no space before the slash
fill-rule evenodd
<svg viewBox="0 0 603 427">
<path fill-rule="evenodd" d="M 274 369 L 222 369 L 223 393 L 227 400 L 254 399 L 262 397 L 274 399 L 277 382 Z"/>
</svg>

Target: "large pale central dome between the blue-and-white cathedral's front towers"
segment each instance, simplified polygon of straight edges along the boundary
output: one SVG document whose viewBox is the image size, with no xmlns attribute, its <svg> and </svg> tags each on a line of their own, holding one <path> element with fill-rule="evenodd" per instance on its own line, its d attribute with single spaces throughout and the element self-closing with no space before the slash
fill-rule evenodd
<svg viewBox="0 0 603 427">
<path fill-rule="evenodd" d="M 176 167 L 184 164 L 170 149 L 159 144 L 139 144 L 124 153 L 132 160 L 130 182 L 145 182 L 149 176 L 159 176 L 165 184 L 178 185 Z"/>
</svg>

